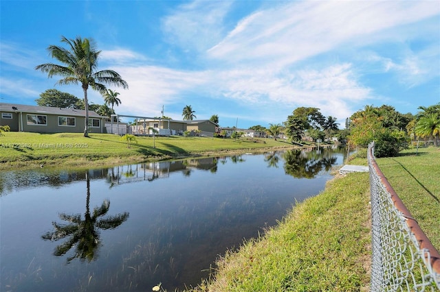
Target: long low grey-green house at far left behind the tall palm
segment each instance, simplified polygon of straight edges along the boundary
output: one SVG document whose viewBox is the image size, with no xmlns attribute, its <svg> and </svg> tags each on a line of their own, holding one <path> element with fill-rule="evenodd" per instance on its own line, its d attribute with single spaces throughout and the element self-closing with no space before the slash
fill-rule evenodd
<svg viewBox="0 0 440 292">
<path fill-rule="evenodd" d="M 89 110 L 89 132 L 104 133 L 105 118 Z M 0 125 L 8 125 L 14 132 L 82 133 L 85 110 L 0 103 Z"/>
</svg>

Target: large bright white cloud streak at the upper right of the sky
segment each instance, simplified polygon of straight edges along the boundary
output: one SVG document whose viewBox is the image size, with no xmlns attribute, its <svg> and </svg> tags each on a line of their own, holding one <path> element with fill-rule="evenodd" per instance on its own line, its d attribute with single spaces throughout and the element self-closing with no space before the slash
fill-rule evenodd
<svg viewBox="0 0 440 292">
<path fill-rule="evenodd" d="M 378 32 L 439 11 L 434 1 L 288 2 L 251 14 L 208 53 L 231 64 L 285 66 L 341 45 L 375 42 Z"/>
</svg>

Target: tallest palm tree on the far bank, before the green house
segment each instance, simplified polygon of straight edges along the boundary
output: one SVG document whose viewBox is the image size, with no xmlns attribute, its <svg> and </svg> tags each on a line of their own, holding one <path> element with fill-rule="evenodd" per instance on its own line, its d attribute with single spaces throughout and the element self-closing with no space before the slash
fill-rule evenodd
<svg viewBox="0 0 440 292">
<path fill-rule="evenodd" d="M 98 69 L 98 58 L 101 51 L 96 49 L 94 40 L 88 38 L 81 38 L 77 36 L 75 39 L 67 39 L 65 36 L 61 37 L 61 42 L 68 45 L 69 49 L 50 45 L 47 51 L 50 52 L 52 58 L 56 58 L 59 62 L 65 64 L 41 64 L 35 69 L 47 73 L 48 77 L 54 75 L 61 75 L 63 79 L 58 80 L 56 84 L 78 84 L 80 83 L 84 91 L 84 105 L 85 105 L 85 129 L 84 136 L 89 136 L 89 104 L 87 99 L 87 89 L 89 86 L 93 90 L 99 91 L 101 94 L 105 93 L 107 89 L 104 84 L 114 86 L 122 86 L 122 88 L 129 88 L 129 85 L 122 80 L 122 77 L 113 70 Z"/>
</svg>

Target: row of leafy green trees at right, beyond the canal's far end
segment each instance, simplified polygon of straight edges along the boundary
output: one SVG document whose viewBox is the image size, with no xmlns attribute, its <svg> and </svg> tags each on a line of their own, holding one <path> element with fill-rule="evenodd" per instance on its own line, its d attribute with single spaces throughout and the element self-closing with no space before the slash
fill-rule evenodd
<svg viewBox="0 0 440 292">
<path fill-rule="evenodd" d="M 319 108 L 296 108 L 281 125 L 270 127 L 255 125 L 251 130 L 266 132 L 277 138 L 280 134 L 290 141 L 300 143 L 305 139 L 348 141 L 352 145 L 367 147 L 375 141 L 375 156 L 396 156 L 406 149 L 410 141 L 432 139 L 440 146 L 440 103 L 418 108 L 417 114 L 401 114 L 393 106 L 365 106 L 346 119 L 345 129 L 340 130 L 335 117 L 324 117 Z"/>
</svg>

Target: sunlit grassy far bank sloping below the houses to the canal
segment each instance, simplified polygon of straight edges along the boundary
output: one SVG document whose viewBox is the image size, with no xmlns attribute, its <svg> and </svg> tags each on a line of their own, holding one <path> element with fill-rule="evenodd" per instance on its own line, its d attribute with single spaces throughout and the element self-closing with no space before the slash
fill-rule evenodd
<svg viewBox="0 0 440 292">
<path fill-rule="evenodd" d="M 5 132 L 0 137 L 0 170 L 40 165 L 94 167 L 126 162 L 209 155 L 230 151 L 258 151 L 268 148 L 293 148 L 273 139 L 222 139 L 206 137 L 138 136 L 127 147 L 114 134 Z"/>
</svg>

